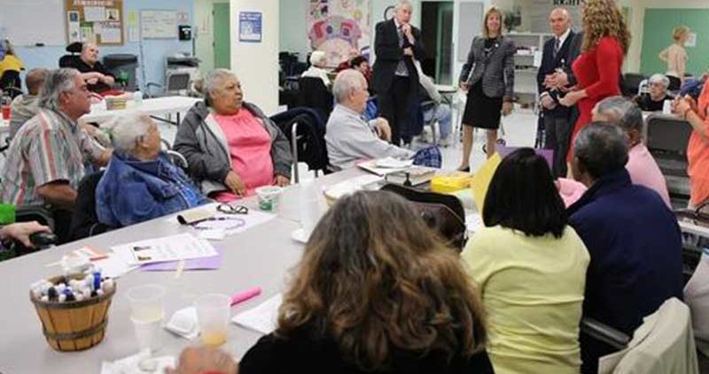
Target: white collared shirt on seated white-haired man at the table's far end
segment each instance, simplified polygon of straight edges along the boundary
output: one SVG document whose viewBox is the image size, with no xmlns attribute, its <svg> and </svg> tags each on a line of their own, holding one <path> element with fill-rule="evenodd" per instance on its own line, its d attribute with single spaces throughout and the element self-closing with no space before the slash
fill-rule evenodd
<svg viewBox="0 0 709 374">
<path fill-rule="evenodd" d="M 330 164 L 338 169 L 351 168 L 359 160 L 415 155 L 409 149 L 379 139 L 361 114 L 340 104 L 335 105 L 327 121 L 325 144 Z"/>
</svg>

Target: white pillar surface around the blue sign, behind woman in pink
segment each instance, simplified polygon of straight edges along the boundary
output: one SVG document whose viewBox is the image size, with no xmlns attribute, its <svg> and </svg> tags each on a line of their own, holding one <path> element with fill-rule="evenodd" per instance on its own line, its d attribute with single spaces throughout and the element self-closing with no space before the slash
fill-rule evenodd
<svg viewBox="0 0 709 374">
<path fill-rule="evenodd" d="M 278 111 L 278 0 L 231 0 L 231 70 L 241 80 L 244 99 L 267 115 Z M 262 41 L 239 42 L 239 11 L 261 11 Z"/>
</svg>

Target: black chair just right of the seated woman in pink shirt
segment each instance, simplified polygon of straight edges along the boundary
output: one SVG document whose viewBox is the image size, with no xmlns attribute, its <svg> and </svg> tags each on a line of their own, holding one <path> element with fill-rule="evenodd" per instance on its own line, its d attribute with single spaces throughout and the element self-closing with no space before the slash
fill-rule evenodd
<svg viewBox="0 0 709 374">
<path fill-rule="evenodd" d="M 308 169 L 330 172 L 325 146 L 325 122 L 320 114 L 309 108 L 296 108 L 271 117 L 278 128 L 291 141 L 293 179 L 300 181 L 298 162 L 308 164 Z"/>
</svg>

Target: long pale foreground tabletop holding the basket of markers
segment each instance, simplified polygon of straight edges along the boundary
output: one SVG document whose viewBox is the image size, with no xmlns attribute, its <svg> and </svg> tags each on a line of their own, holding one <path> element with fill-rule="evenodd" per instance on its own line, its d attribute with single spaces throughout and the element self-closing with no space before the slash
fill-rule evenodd
<svg viewBox="0 0 709 374">
<path fill-rule="evenodd" d="M 316 179 L 319 186 L 331 185 L 364 172 L 352 170 L 334 173 Z M 300 227 L 298 218 L 299 186 L 286 189 L 277 218 L 258 225 L 245 233 L 214 242 L 222 250 L 222 268 L 217 271 L 185 271 L 181 278 L 175 273 L 133 271 L 117 280 L 118 291 L 113 296 L 109 322 L 104 340 L 96 347 L 74 353 L 54 351 L 44 340 L 42 325 L 29 301 L 29 285 L 38 279 L 58 274 L 57 268 L 47 268 L 46 263 L 58 261 L 71 250 L 91 245 L 107 250 L 112 245 L 134 240 L 144 240 L 192 229 L 167 218 L 133 225 L 104 233 L 85 240 L 65 244 L 58 248 L 22 256 L 0 263 L 0 295 L 3 321 L 0 333 L 0 372 L 3 373 L 97 373 L 102 361 L 114 361 L 137 353 L 133 325 L 129 320 L 129 303 L 126 291 L 131 286 L 157 283 L 165 286 L 166 313 L 171 316 L 177 309 L 191 305 L 199 295 L 207 293 L 235 294 L 252 286 L 261 286 L 263 293 L 231 310 L 232 316 L 251 309 L 269 297 L 284 290 L 287 272 L 300 261 L 303 245 L 291 239 L 292 231 Z M 256 209 L 255 198 L 242 202 Z M 164 346 L 156 355 L 178 355 L 183 347 L 196 342 L 177 338 L 161 332 Z M 233 355 L 241 357 L 261 337 L 260 334 L 230 324 L 229 341 L 222 346 Z"/>
</svg>

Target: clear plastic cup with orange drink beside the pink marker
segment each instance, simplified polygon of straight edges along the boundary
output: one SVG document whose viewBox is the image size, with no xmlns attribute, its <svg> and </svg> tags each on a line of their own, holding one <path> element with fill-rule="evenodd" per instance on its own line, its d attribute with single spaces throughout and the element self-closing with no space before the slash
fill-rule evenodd
<svg viewBox="0 0 709 374">
<path fill-rule="evenodd" d="M 207 346 L 219 347 L 227 341 L 231 299 L 225 294 L 206 294 L 194 301 L 199 320 L 199 338 Z"/>
</svg>

